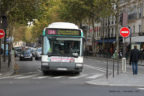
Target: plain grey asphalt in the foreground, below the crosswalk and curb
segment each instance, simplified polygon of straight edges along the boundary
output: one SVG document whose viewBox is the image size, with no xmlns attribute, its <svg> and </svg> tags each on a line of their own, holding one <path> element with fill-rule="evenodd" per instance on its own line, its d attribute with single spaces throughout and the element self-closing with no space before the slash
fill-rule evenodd
<svg viewBox="0 0 144 96">
<path fill-rule="evenodd" d="M 5 80 L 0 96 L 143 96 L 136 87 L 92 86 L 61 79 Z"/>
</svg>

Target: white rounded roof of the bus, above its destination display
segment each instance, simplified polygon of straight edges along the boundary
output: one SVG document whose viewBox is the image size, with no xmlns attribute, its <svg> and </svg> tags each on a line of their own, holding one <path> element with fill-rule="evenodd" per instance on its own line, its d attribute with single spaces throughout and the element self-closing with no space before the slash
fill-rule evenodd
<svg viewBox="0 0 144 96">
<path fill-rule="evenodd" d="M 69 22 L 54 22 L 48 25 L 47 28 L 58 28 L 58 29 L 79 29 L 79 27 Z"/>
</svg>

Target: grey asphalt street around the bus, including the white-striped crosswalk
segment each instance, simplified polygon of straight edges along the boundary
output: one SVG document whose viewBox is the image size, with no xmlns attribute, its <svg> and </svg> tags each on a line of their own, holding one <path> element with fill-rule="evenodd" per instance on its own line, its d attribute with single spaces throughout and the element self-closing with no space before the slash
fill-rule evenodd
<svg viewBox="0 0 144 96">
<path fill-rule="evenodd" d="M 140 87 L 94 86 L 86 82 L 105 76 L 106 60 L 85 58 L 80 75 L 71 73 L 43 76 L 40 61 L 19 61 L 18 74 L 0 76 L 0 96 L 143 96 Z M 112 72 L 109 64 L 109 72 Z M 129 68 L 130 70 L 130 68 Z"/>
</svg>

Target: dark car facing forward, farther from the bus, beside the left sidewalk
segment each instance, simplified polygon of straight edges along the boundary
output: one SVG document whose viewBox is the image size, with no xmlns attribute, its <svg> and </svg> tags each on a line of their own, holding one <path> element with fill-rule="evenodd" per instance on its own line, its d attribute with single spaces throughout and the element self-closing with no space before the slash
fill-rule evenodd
<svg viewBox="0 0 144 96">
<path fill-rule="evenodd" d="M 22 51 L 19 57 L 20 60 L 33 60 L 33 56 L 30 50 Z"/>
</svg>

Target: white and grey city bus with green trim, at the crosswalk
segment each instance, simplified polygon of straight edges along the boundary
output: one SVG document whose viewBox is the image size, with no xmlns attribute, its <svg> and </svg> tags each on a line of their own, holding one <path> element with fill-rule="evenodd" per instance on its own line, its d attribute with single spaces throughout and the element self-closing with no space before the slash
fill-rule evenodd
<svg viewBox="0 0 144 96">
<path fill-rule="evenodd" d="M 82 29 L 68 22 L 54 22 L 43 30 L 41 70 L 70 71 L 76 74 L 83 69 Z"/>
</svg>

